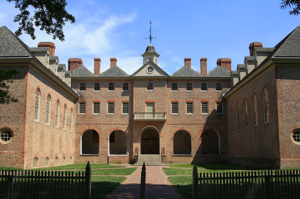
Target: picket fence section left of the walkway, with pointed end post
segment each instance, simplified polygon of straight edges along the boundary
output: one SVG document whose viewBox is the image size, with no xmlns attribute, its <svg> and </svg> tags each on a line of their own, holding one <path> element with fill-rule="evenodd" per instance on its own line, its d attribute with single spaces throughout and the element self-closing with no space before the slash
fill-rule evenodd
<svg viewBox="0 0 300 199">
<path fill-rule="evenodd" d="M 0 199 L 91 198 L 91 167 L 85 172 L 0 171 Z"/>
</svg>

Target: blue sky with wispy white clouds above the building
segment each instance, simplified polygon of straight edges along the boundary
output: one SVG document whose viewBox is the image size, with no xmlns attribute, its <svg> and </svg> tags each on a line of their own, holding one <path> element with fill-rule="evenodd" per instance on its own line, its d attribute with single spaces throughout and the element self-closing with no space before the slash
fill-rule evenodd
<svg viewBox="0 0 300 199">
<path fill-rule="evenodd" d="M 94 71 L 94 57 L 101 58 L 101 73 L 110 67 L 110 57 L 129 75 L 143 65 L 141 55 L 149 45 L 150 20 L 152 44 L 159 57 L 159 67 L 169 75 L 190 57 L 194 70 L 200 58 L 207 57 L 208 70 L 218 58 L 230 58 L 232 70 L 249 56 L 249 44 L 261 42 L 274 47 L 300 25 L 300 16 L 280 10 L 276 1 L 68 1 L 66 10 L 76 18 L 64 26 L 65 41 L 36 30 L 37 38 L 20 36 L 29 47 L 38 42 L 55 43 L 55 56 L 67 65 L 68 58 L 81 58 Z M 0 2 L 0 26 L 15 31 L 18 10 L 13 3 Z"/>
</svg>

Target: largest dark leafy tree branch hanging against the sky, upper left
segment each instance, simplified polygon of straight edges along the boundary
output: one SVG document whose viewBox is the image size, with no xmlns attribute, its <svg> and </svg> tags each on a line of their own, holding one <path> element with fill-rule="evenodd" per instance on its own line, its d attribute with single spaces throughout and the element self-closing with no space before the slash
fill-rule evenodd
<svg viewBox="0 0 300 199">
<path fill-rule="evenodd" d="M 67 6 L 66 0 L 7 1 L 15 2 L 15 8 L 20 10 L 20 13 L 13 20 L 19 23 L 19 28 L 15 32 L 16 36 L 22 35 L 22 31 L 24 31 L 32 39 L 35 39 L 35 27 L 39 27 L 40 30 L 45 30 L 48 35 L 52 35 L 53 39 L 58 38 L 60 41 L 64 41 L 62 27 L 65 25 L 65 22 L 75 23 L 75 17 L 65 10 Z M 29 7 L 35 9 L 33 16 L 30 15 Z"/>
</svg>

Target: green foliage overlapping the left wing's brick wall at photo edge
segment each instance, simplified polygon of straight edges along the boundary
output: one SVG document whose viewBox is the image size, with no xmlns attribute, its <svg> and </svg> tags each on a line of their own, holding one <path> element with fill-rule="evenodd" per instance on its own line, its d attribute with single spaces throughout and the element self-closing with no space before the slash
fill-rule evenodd
<svg viewBox="0 0 300 199">
<path fill-rule="evenodd" d="M 9 104 L 10 102 L 18 102 L 18 99 L 9 94 L 9 88 L 13 83 L 13 76 L 20 74 L 15 68 L 8 71 L 0 69 L 0 104 Z"/>
</svg>

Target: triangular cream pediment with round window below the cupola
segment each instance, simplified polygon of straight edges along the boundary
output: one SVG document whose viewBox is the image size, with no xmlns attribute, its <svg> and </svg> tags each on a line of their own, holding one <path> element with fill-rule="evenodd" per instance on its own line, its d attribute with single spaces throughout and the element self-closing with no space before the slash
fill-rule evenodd
<svg viewBox="0 0 300 199">
<path fill-rule="evenodd" d="M 152 61 L 147 62 L 131 76 L 169 76 Z"/>
</svg>

